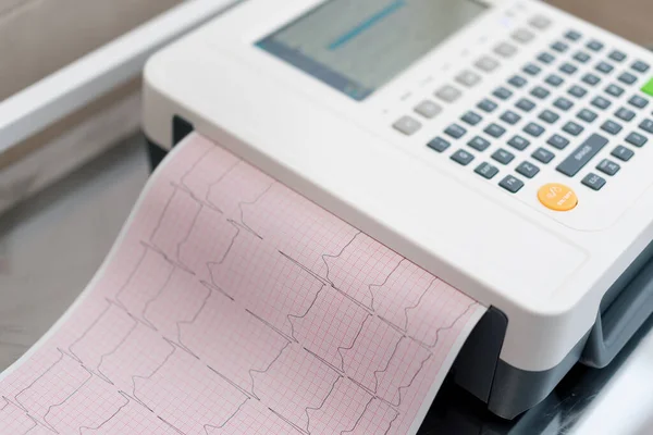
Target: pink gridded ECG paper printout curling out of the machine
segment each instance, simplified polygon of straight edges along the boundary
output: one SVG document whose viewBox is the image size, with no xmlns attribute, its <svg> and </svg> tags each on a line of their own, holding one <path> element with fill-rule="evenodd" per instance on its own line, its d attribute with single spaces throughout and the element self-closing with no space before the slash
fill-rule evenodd
<svg viewBox="0 0 653 435">
<path fill-rule="evenodd" d="M 484 310 L 193 134 L 3 373 L 0 434 L 414 434 Z"/>
</svg>

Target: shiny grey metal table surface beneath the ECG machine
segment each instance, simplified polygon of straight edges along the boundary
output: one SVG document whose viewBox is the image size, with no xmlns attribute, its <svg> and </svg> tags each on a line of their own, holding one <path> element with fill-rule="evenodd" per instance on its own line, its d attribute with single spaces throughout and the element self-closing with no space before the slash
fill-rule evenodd
<svg viewBox="0 0 653 435">
<path fill-rule="evenodd" d="M 0 217 L 0 370 L 84 289 L 149 175 L 140 137 L 126 140 Z M 445 384 L 421 434 L 653 434 L 653 320 L 604 370 L 575 368 L 515 422 Z"/>
</svg>

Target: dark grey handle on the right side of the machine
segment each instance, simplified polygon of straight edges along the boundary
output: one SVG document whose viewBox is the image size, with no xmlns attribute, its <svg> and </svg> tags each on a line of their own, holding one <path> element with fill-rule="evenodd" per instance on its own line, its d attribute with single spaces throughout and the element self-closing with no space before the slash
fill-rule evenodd
<svg viewBox="0 0 653 435">
<path fill-rule="evenodd" d="M 624 288 L 596 323 L 583 350 L 581 361 L 604 368 L 626 346 L 653 313 L 653 260 Z"/>
</svg>

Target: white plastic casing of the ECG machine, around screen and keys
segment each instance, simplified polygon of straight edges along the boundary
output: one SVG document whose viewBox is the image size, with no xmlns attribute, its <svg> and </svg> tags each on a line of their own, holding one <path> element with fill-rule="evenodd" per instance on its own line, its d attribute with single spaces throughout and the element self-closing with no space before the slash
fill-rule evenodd
<svg viewBox="0 0 653 435">
<path fill-rule="evenodd" d="M 606 289 L 652 239 L 653 147 L 637 149 L 617 175 L 605 176 L 607 184 L 600 191 L 580 184 L 649 112 L 639 111 L 617 136 L 603 133 L 611 138 L 609 146 L 574 178 L 557 173 L 555 162 L 540 164 L 534 178 L 521 177 L 526 185 L 517 194 L 501 188 L 498 181 L 514 174 L 537 147 L 545 147 L 549 136 L 559 132 L 577 109 L 589 107 L 590 97 L 563 114 L 555 127 L 547 126 L 550 134 L 532 139 L 522 154 L 516 151 L 517 159 L 502 166 L 492 181 L 476 174 L 476 165 L 460 166 L 449 153 L 434 152 L 426 144 L 568 29 L 583 36 L 582 41 L 567 41 L 572 51 L 575 45 L 582 48 L 592 38 L 605 44 L 600 55 L 593 53 L 588 70 L 614 48 L 628 54 L 628 61 L 602 76 L 595 92 L 618 83 L 617 75 L 631 61 L 653 63 L 653 57 L 544 3 L 504 1 L 358 102 L 255 47 L 319 2 L 250 0 L 156 54 L 145 74 L 147 135 L 170 148 L 172 116 L 185 117 L 200 134 L 483 304 L 502 310 L 508 316 L 501 355 L 505 362 L 528 371 L 557 365 L 593 325 Z M 533 16 L 545 16 L 551 25 L 530 26 Z M 513 41 L 513 32 L 522 27 L 533 32 L 535 39 L 525 45 Z M 435 89 L 473 69 L 479 57 L 494 55 L 492 49 L 502 41 L 517 45 L 519 51 L 501 59 L 497 71 L 482 74 L 481 84 L 446 104 L 441 115 L 422 120 L 423 127 L 410 137 L 391 127 L 399 116 L 415 115 L 417 102 L 433 98 Z M 556 61 L 541 66 L 553 71 L 558 65 Z M 579 82 L 582 73 L 567 80 L 558 94 Z M 649 78 L 638 77 L 632 86 L 621 85 L 627 88 L 625 96 L 609 111 L 597 111 L 601 119 L 558 152 L 556 162 L 627 104 Z M 512 101 L 529 90 L 517 90 Z M 540 107 L 551 108 L 553 98 Z M 534 121 L 539 112 L 525 116 L 506 137 Z M 466 139 L 477 133 L 470 129 Z M 507 139 L 502 140 L 505 145 Z M 452 150 L 464 148 L 466 141 Z M 475 163 L 490 160 L 477 154 Z M 550 182 L 570 186 L 578 194 L 578 207 L 565 213 L 542 207 L 537 189 Z"/>
</svg>

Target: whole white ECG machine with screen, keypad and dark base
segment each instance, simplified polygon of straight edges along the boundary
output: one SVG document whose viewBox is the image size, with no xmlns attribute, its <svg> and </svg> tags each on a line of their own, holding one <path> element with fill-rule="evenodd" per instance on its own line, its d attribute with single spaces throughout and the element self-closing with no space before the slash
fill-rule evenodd
<svg viewBox="0 0 653 435">
<path fill-rule="evenodd" d="M 155 54 L 195 130 L 489 307 L 449 375 L 513 419 L 653 311 L 653 54 L 535 0 L 249 0 Z"/>
</svg>

